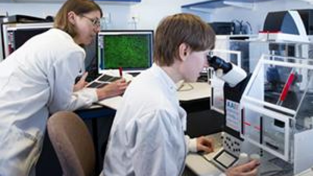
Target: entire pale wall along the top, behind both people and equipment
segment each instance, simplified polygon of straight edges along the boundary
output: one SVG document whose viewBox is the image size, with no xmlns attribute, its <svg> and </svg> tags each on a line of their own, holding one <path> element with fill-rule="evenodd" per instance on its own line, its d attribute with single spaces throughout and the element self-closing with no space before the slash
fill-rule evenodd
<svg viewBox="0 0 313 176">
<path fill-rule="evenodd" d="M 134 28 L 131 17 L 135 17 L 138 29 L 154 29 L 165 16 L 181 12 L 182 5 L 200 1 L 202 0 L 142 0 L 141 3 L 134 5 L 99 4 L 106 16 L 111 17 L 111 21 L 107 25 L 109 29 Z M 45 17 L 47 15 L 54 16 L 61 4 L 0 3 L 0 7 L 0 15 L 8 12 L 9 15 L 24 14 Z M 209 10 L 211 13 L 191 10 L 183 10 L 183 12 L 197 14 L 207 22 L 231 21 L 233 19 L 249 21 L 252 25 L 253 33 L 256 34 L 263 28 L 263 22 L 268 12 L 302 8 L 313 8 L 313 5 L 300 0 L 273 0 L 256 1 L 253 10 L 225 7 Z"/>
</svg>

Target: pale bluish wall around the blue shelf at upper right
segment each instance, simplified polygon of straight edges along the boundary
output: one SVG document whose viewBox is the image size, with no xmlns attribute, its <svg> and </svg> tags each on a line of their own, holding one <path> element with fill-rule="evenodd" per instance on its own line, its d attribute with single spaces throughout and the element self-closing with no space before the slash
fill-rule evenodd
<svg viewBox="0 0 313 176">
<path fill-rule="evenodd" d="M 210 18 L 207 19 L 207 22 L 214 21 L 232 21 L 233 19 L 237 19 L 239 21 L 249 21 L 252 26 L 253 33 L 257 34 L 259 30 L 263 29 L 263 23 L 268 12 L 272 11 L 283 11 L 290 9 L 308 9 L 313 8 L 313 5 L 301 1 L 301 0 L 273 0 L 273 1 L 263 1 L 258 2 L 255 1 L 254 9 L 245 9 L 238 7 L 225 7 L 212 9 L 211 13 L 207 13 L 210 15 Z M 199 13 L 196 13 L 202 16 Z M 206 19 L 203 17 L 203 19 Z"/>
</svg>

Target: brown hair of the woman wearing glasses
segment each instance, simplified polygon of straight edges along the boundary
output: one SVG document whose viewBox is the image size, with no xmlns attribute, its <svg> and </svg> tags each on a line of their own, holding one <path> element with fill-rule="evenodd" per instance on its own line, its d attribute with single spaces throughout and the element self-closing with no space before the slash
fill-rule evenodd
<svg viewBox="0 0 313 176">
<path fill-rule="evenodd" d="M 71 11 L 73 11 L 76 15 L 99 11 L 101 17 L 103 15 L 100 6 L 93 0 L 67 0 L 55 16 L 54 28 L 61 29 L 72 37 L 76 36 L 76 30 L 72 23 L 69 23 L 67 18 L 67 14 Z"/>
</svg>

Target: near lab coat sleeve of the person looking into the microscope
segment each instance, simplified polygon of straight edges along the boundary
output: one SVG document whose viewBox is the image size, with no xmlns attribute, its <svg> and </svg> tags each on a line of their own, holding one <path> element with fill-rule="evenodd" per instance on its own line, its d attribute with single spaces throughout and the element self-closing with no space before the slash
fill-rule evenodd
<svg viewBox="0 0 313 176">
<path fill-rule="evenodd" d="M 177 130 L 171 115 L 165 111 L 146 114 L 131 127 L 127 138 L 131 147 L 136 176 L 179 175 L 184 168 L 184 137 Z M 179 131 L 179 132 L 178 132 Z"/>
</svg>

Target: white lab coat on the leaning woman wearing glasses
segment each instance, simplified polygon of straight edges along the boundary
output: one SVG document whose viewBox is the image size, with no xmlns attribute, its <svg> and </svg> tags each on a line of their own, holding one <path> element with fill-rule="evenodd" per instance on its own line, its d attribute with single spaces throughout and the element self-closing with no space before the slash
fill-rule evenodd
<svg viewBox="0 0 313 176">
<path fill-rule="evenodd" d="M 69 34 L 50 29 L 0 63 L 1 176 L 26 176 L 34 168 L 50 113 L 97 100 L 94 89 L 73 93 L 84 58 Z"/>
</svg>

